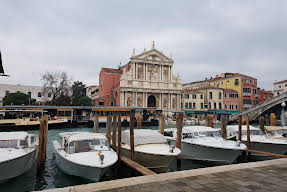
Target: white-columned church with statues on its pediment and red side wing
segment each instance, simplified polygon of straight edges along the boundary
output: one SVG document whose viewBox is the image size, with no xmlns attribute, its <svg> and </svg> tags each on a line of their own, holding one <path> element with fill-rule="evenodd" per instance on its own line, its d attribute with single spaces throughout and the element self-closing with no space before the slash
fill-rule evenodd
<svg viewBox="0 0 287 192">
<path fill-rule="evenodd" d="M 181 111 L 182 84 L 173 75 L 174 61 L 155 49 L 144 50 L 118 69 L 102 68 L 96 106 L 156 107 Z"/>
</svg>

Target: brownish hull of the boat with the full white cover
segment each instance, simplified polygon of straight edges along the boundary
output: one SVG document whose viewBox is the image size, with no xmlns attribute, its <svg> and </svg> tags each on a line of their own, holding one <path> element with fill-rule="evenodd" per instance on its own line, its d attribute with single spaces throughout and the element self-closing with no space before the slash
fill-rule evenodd
<svg viewBox="0 0 287 192">
<path fill-rule="evenodd" d="M 130 150 L 126 148 L 122 148 L 121 154 L 129 158 L 131 156 Z M 135 151 L 135 161 L 156 173 L 165 173 L 175 157 Z"/>
</svg>

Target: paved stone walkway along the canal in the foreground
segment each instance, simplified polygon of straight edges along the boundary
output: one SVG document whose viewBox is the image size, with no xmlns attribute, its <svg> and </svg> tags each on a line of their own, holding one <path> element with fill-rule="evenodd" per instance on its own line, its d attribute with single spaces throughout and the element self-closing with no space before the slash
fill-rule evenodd
<svg viewBox="0 0 287 192">
<path fill-rule="evenodd" d="M 46 192 L 287 191 L 287 159 L 140 176 Z"/>
</svg>

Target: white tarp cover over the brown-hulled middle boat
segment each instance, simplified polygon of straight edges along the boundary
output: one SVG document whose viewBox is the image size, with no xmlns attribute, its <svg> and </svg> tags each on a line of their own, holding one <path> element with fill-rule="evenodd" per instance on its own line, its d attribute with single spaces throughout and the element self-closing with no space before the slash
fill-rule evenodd
<svg viewBox="0 0 287 192">
<path fill-rule="evenodd" d="M 134 145 L 166 143 L 166 138 L 157 130 L 151 129 L 135 129 L 134 130 Z M 122 143 L 130 145 L 130 131 L 122 132 Z"/>
</svg>

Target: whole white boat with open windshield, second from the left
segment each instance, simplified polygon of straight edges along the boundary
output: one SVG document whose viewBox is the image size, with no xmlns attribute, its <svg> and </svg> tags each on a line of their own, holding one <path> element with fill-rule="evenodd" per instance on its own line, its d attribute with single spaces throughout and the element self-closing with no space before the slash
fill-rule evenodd
<svg viewBox="0 0 287 192">
<path fill-rule="evenodd" d="M 98 181 L 118 156 L 102 133 L 60 133 L 61 143 L 53 141 L 58 167 L 69 175 Z"/>
</svg>

